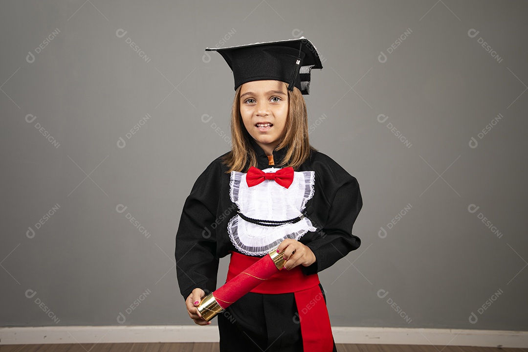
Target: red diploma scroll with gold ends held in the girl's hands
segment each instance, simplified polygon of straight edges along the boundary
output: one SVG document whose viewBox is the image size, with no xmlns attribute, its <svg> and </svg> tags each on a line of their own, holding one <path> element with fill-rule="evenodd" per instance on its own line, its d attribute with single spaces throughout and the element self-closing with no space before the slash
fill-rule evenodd
<svg viewBox="0 0 528 352">
<path fill-rule="evenodd" d="M 262 281 L 279 272 L 284 267 L 284 263 L 282 252 L 277 253 L 277 247 L 272 249 L 249 268 L 224 283 L 222 287 L 205 296 L 197 307 L 202 318 L 207 321 L 213 319 Z"/>
</svg>

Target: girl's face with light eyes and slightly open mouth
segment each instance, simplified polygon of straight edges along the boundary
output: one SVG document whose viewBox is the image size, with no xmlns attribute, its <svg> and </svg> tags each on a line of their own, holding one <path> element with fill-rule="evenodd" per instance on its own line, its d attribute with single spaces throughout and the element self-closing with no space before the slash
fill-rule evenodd
<svg viewBox="0 0 528 352">
<path fill-rule="evenodd" d="M 257 144 L 271 155 L 286 132 L 288 92 L 286 83 L 252 81 L 240 89 L 240 115 Z"/>
</svg>

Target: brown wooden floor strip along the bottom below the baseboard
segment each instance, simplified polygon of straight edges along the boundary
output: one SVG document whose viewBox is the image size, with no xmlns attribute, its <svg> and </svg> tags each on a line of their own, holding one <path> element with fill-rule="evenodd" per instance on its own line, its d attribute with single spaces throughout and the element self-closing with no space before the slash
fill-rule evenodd
<svg viewBox="0 0 528 352">
<path fill-rule="evenodd" d="M 339 352 L 528 352 L 528 349 L 522 348 L 468 346 L 370 344 L 336 344 L 336 346 Z M 218 343 L 0 345 L 1 352 L 218 352 L 219 350 Z"/>
</svg>

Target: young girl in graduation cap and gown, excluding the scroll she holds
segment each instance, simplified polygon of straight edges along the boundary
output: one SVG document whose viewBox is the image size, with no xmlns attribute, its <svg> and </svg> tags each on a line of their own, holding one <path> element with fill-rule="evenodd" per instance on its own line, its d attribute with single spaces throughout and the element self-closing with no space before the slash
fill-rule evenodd
<svg viewBox="0 0 528 352">
<path fill-rule="evenodd" d="M 176 234 L 176 271 L 188 315 L 217 288 L 277 248 L 284 270 L 218 315 L 221 351 L 336 351 L 317 273 L 361 240 L 352 226 L 359 185 L 308 142 L 302 94 L 321 69 L 304 37 L 215 50 L 233 71 L 232 150 L 205 169 L 187 197 Z M 221 286 L 221 285 L 219 285 Z M 271 348 L 270 348 L 271 347 Z"/>
</svg>

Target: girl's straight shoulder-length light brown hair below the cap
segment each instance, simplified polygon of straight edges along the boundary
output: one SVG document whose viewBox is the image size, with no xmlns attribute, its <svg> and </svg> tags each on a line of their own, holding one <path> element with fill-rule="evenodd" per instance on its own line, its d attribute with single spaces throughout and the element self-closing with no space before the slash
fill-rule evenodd
<svg viewBox="0 0 528 352">
<path fill-rule="evenodd" d="M 240 115 L 240 90 L 235 92 L 231 108 L 231 151 L 222 159 L 231 171 L 244 172 L 250 166 L 257 167 L 257 154 L 251 145 L 251 135 L 244 126 Z M 308 113 L 306 102 L 300 90 L 294 87 L 288 92 L 288 117 L 286 119 L 286 134 L 277 146 L 278 149 L 287 148 L 284 159 L 276 160 L 276 166 L 291 166 L 297 169 L 316 149 L 308 142 Z"/>
</svg>

